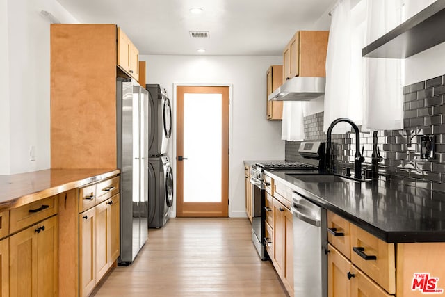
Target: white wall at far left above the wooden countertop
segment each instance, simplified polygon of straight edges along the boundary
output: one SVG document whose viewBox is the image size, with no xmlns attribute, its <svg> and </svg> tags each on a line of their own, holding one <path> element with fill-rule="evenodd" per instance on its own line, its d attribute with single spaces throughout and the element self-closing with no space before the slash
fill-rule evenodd
<svg viewBox="0 0 445 297">
<path fill-rule="evenodd" d="M 76 22 L 55 0 L 1 1 L 0 74 L 2 140 L 0 174 L 47 169 L 50 160 L 50 48 L 47 10 L 60 22 Z M 35 145 L 35 161 L 29 147 Z"/>
</svg>

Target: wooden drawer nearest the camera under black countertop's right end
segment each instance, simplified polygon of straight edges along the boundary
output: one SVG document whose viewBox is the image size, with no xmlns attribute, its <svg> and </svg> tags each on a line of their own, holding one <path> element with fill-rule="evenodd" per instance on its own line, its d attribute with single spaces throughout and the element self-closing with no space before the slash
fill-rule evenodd
<svg viewBox="0 0 445 297">
<path fill-rule="evenodd" d="M 351 262 L 380 284 L 389 294 L 395 294 L 394 243 L 385 243 L 354 224 L 350 224 L 350 241 Z"/>
</svg>

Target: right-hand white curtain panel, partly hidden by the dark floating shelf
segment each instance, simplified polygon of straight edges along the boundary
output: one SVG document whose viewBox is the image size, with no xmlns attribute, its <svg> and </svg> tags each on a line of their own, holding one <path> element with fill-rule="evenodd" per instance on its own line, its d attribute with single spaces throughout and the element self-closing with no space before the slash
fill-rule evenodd
<svg viewBox="0 0 445 297">
<path fill-rule="evenodd" d="M 366 43 L 394 29 L 402 21 L 401 0 L 368 0 Z M 403 128 L 403 60 L 364 58 L 366 61 L 364 127 Z"/>
</svg>

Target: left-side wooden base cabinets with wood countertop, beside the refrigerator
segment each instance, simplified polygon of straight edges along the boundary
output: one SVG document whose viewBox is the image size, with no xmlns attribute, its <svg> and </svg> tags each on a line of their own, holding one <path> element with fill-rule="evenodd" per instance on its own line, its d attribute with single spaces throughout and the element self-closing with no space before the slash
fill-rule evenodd
<svg viewBox="0 0 445 297">
<path fill-rule="evenodd" d="M 0 176 L 1 296 L 88 296 L 119 255 L 117 169 Z"/>
</svg>

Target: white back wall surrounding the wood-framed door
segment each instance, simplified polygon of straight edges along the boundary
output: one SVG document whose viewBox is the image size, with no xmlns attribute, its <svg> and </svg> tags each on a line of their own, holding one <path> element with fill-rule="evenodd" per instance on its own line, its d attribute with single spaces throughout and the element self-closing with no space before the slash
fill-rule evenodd
<svg viewBox="0 0 445 297">
<path fill-rule="evenodd" d="M 147 83 L 161 84 L 171 98 L 173 83 L 232 86 L 229 216 L 245 216 L 243 160 L 284 159 L 281 121 L 266 120 L 266 70 L 282 57 L 141 55 L 140 60 L 147 61 Z M 172 157 L 174 145 L 169 150 Z"/>
</svg>

